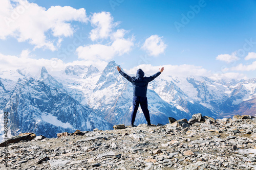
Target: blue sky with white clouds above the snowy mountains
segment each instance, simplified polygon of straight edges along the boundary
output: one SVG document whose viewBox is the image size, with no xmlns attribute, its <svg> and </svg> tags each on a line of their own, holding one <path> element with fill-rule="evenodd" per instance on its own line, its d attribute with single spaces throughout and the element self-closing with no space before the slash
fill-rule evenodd
<svg viewBox="0 0 256 170">
<path fill-rule="evenodd" d="M 165 66 L 170 75 L 256 77 L 255 0 L 0 2 L 2 69 L 103 69 L 115 60 L 128 72 Z"/>
</svg>

